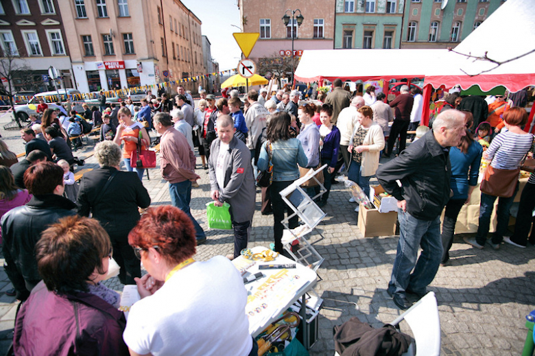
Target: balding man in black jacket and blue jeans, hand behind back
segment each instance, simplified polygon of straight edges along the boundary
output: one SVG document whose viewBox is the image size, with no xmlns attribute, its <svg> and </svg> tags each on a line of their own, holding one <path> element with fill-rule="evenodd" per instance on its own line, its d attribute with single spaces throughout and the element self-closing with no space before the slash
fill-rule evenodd
<svg viewBox="0 0 535 356">
<path fill-rule="evenodd" d="M 460 143 L 464 128 L 462 112 L 444 111 L 432 131 L 377 169 L 379 183 L 398 200 L 399 243 L 387 292 L 400 309 L 410 307 L 405 292 L 427 293 L 440 265 L 440 213 L 451 196 L 449 147 Z"/>
</svg>

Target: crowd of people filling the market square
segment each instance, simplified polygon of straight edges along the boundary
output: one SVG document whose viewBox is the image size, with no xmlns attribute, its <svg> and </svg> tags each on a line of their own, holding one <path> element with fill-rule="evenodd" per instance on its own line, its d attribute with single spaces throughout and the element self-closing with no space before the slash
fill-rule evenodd
<svg viewBox="0 0 535 356">
<path fill-rule="evenodd" d="M 80 135 L 76 126 L 83 132 L 80 114 L 73 112 L 65 127 L 60 110 L 42 108 L 40 123 L 34 118 L 32 127 L 21 131 L 25 159 L 17 162 L 0 140 L 4 267 L 12 294 L 23 301 L 15 353 L 98 348 L 114 355 L 256 355 L 243 312 L 246 290 L 230 260 L 248 246 L 259 172 L 270 174 L 270 184 L 261 188 L 261 213 L 273 215 L 274 250 L 281 254 L 286 254 L 281 241 L 285 213 L 293 213 L 281 197 L 283 189 L 309 169 L 325 166 L 326 192 L 307 188 L 322 207 L 337 174 L 345 172 L 366 195 L 375 176 L 398 201 L 400 237 L 387 292 L 400 309 L 410 306 L 407 293 L 424 296 L 440 265 L 450 263 L 455 222 L 471 200 L 482 160 L 496 171 L 516 170 L 516 176 L 501 179 L 499 188 L 507 193 L 482 187 L 477 235 L 465 241 L 479 249 L 490 244 L 497 250 L 502 241 L 524 248 L 535 176 L 521 194 L 514 234 L 508 237 L 506 230 L 519 189 L 519 166 L 527 152 L 535 151 L 533 135 L 523 131 L 525 109 L 496 95 L 498 104 L 487 104 L 484 112 L 481 97 L 453 93 L 424 133 L 418 88 L 401 86 L 390 103 L 376 90 L 368 86 L 363 96 L 351 95 L 335 80 L 331 93 L 317 93 L 318 105 L 299 105 L 298 91 L 269 97 L 265 88 L 248 91 L 243 103 L 236 90 L 217 100 L 200 93 L 197 108 L 182 86 L 174 99 L 147 93 L 141 107 L 127 101 L 108 110 L 104 98 L 99 108 L 85 106 L 82 113 L 102 126 L 95 146 L 99 168 L 86 172 L 80 187 L 68 144 L 69 137 Z M 409 128 L 416 135 L 405 148 Z M 144 169 L 130 161 L 139 145 L 152 145 L 150 132 L 158 135 L 160 174 L 169 182 L 171 200 L 152 208 Z M 381 152 L 391 158 L 394 146 L 398 154 L 380 165 Z M 208 170 L 213 204 L 230 204 L 235 237 L 233 254 L 204 262 L 193 259 L 196 246 L 206 241 L 189 206 L 200 179 L 195 147 L 201 169 Z M 487 239 L 495 200 L 498 225 Z M 288 226 L 296 228 L 298 217 L 290 218 Z M 534 232 L 530 241 L 535 243 Z M 117 310 L 117 292 L 102 284 L 111 257 L 120 267 L 119 281 L 137 285 L 142 298 L 128 323 Z M 207 288 L 218 298 L 210 298 Z M 51 322 L 59 325 L 62 337 L 51 337 L 58 331 L 49 329 Z M 200 336 L 207 329 L 217 335 L 211 342 Z"/>
</svg>

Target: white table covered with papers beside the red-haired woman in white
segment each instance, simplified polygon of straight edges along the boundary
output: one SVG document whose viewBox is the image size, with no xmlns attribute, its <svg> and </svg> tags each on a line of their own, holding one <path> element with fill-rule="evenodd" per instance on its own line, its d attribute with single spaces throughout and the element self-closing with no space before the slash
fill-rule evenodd
<svg viewBox="0 0 535 356">
<path fill-rule="evenodd" d="M 268 250 L 268 248 L 257 246 L 251 250 L 254 254 Z M 237 262 L 239 262 L 239 259 L 243 260 L 243 257 L 237 257 Z M 295 264 L 296 268 L 287 270 L 259 270 L 260 265 L 281 265 L 288 263 Z M 302 298 L 302 307 L 300 309 L 302 325 L 300 327 L 302 327 L 306 345 L 306 338 L 308 338 L 309 334 L 306 322 L 307 308 L 305 307 L 305 293 L 316 285 L 316 272 L 282 255 L 279 255 L 274 261 L 270 262 L 257 261 L 247 271 L 243 275 L 244 277 L 257 272 L 264 274 L 257 281 L 246 284 L 248 292 L 246 313 L 249 319 L 249 333 L 253 337 L 256 337 L 269 324 L 276 320 L 283 311 L 288 309 L 290 305 L 294 304 L 299 298 Z"/>
</svg>

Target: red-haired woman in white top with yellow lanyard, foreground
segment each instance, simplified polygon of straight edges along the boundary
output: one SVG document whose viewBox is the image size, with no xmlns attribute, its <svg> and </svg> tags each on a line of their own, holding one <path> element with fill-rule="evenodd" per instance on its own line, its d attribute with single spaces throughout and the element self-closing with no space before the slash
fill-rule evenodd
<svg viewBox="0 0 535 356">
<path fill-rule="evenodd" d="M 130 355 L 257 355 L 247 292 L 226 257 L 195 261 L 195 229 L 180 209 L 148 209 L 128 236 L 148 274 L 135 278 L 123 339 Z M 208 332 L 208 333 L 207 333 Z"/>
</svg>

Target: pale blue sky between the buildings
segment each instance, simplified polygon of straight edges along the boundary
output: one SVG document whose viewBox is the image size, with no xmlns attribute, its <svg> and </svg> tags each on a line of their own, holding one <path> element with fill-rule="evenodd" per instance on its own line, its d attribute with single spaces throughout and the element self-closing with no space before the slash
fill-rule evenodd
<svg viewBox="0 0 535 356">
<path fill-rule="evenodd" d="M 202 34 L 211 43 L 212 58 L 219 63 L 219 71 L 235 69 L 241 59 L 241 50 L 233 33 L 240 32 L 237 0 L 181 0 L 200 21 Z"/>
</svg>

